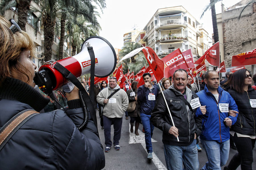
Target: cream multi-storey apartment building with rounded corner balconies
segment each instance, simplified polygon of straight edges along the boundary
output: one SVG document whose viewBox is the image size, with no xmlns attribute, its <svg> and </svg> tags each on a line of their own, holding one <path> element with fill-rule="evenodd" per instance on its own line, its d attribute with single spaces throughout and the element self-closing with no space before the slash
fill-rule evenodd
<svg viewBox="0 0 256 170">
<path fill-rule="evenodd" d="M 205 52 L 203 39 L 200 37 L 208 36 L 208 32 L 203 31 L 202 25 L 182 6 L 156 10 L 143 30 L 146 31 L 143 41 L 160 58 L 177 48 L 181 52 L 190 48 L 195 60 Z M 208 49 L 208 44 L 206 48 Z"/>
</svg>

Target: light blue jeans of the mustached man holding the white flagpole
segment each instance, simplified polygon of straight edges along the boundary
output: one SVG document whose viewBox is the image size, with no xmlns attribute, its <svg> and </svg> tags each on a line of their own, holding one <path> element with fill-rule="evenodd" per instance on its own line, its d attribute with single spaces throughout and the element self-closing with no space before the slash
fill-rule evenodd
<svg viewBox="0 0 256 170">
<path fill-rule="evenodd" d="M 198 170 L 199 161 L 197 156 L 197 140 L 187 146 L 164 144 L 164 156 L 168 170 Z"/>
</svg>

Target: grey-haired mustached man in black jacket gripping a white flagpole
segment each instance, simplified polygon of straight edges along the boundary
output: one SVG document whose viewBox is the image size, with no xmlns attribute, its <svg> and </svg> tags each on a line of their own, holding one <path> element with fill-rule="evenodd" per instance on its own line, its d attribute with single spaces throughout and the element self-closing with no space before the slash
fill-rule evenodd
<svg viewBox="0 0 256 170">
<path fill-rule="evenodd" d="M 163 131 L 162 141 L 167 169 L 182 170 L 183 162 L 184 169 L 197 170 L 199 161 L 196 138 L 201 133 L 201 119 L 194 118 L 194 112 L 200 105 L 192 105 L 191 108 L 189 103 L 199 103 L 199 98 L 187 88 L 188 74 L 184 69 L 176 70 L 173 77 L 173 85 L 163 93 L 175 126 L 172 124 L 162 94 L 158 97 L 152 111 L 151 122 Z"/>
</svg>

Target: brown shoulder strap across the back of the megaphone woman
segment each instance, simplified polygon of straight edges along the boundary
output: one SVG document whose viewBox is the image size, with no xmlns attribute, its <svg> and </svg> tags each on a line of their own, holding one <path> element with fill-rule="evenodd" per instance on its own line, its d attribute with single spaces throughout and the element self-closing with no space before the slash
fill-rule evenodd
<svg viewBox="0 0 256 170">
<path fill-rule="evenodd" d="M 0 150 L 8 142 L 8 140 L 14 135 L 14 133 L 32 116 L 39 114 L 32 109 L 27 109 L 16 114 L 11 120 L 9 120 L 0 129 Z M 7 140 L 6 140 L 7 139 Z"/>
</svg>

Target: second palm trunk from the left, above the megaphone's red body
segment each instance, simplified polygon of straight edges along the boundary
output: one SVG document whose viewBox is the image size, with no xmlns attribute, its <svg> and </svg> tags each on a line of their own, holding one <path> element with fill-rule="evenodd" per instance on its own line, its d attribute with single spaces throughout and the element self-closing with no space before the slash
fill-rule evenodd
<svg viewBox="0 0 256 170">
<path fill-rule="evenodd" d="M 48 15 L 46 18 L 46 22 L 44 23 L 44 61 L 51 60 L 51 46 L 53 44 L 54 38 L 54 26 L 54 21 L 52 21 L 50 16 Z"/>
</svg>

